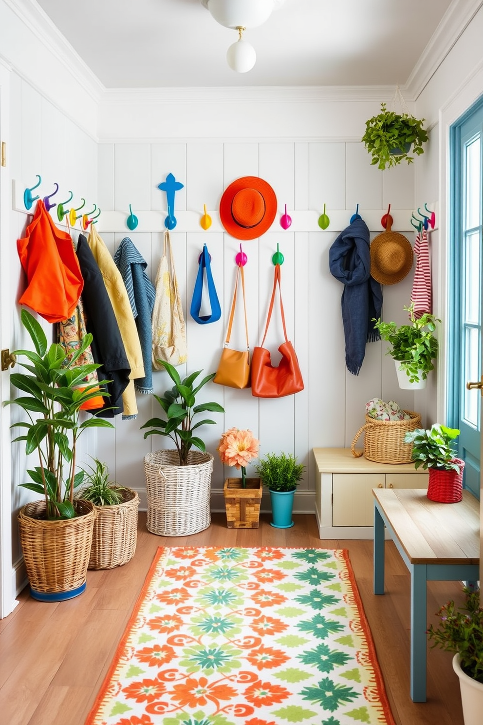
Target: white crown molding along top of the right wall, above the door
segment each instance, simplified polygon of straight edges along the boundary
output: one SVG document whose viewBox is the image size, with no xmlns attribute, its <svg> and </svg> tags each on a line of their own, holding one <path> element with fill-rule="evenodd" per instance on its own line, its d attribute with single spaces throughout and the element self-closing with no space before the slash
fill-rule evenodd
<svg viewBox="0 0 483 725">
<path fill-rule="evenodd" d="M 453 0 L 409 76 L 404 91 L 417 100 L 471 20 L 483 0 Z"/>
</svg>

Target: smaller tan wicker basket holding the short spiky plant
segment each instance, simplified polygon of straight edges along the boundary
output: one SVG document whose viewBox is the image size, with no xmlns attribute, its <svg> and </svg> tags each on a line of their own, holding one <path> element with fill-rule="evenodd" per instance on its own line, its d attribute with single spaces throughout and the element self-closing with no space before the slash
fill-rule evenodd
<svg viewBox="0 0 483 725">
<path fill-rule="evenodd" d="M 134 556 L 138 539 L 139 496 L 131 489 L 122 489 L 121 493 L 122 503 L 96 506 L 90 569 L 112 569 L 127 564 Z"/>
</svg>

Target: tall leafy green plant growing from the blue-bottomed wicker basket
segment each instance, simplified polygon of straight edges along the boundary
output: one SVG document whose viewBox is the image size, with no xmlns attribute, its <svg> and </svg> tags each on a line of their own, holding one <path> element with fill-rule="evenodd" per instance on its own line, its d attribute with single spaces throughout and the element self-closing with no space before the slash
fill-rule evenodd
<svg viewBox="0 0 483 725">
<path fill-rule="evenodd" d="M 112 428 L 104 418 L 80 421 L 80 408 L 84 402 L 99 395 L 97 384 L 85 384 L 85 377 L 99 365 L 77 365 L 77 360 L 91 344 L 88 334 L 69 362 L 62 345 L 48 347 L 46 335 L 37 320 L 22 310 L 22 325 L 28 331 L 34 350 L 14 351 L 17 357 L 26 357 L 28 363 L 19 363 L 28 373 L 12 373 L 10 381 L 24 395 L 7 401 L 19 405 L 29 420 L 13 423 L 12 428 L 23 428 L 25 434 L 14 442 L 24 441 L 25 452 L 37 452 L 38 465 L 28 470 L 31 481 L 20 484 L 41 494 L 46 500 L 46 518 L 74 518 L 74 490 L 83 481 L 84 472 L 76 472 L 76 445 L 80 434 L 87 428 Z"/>
</svg>

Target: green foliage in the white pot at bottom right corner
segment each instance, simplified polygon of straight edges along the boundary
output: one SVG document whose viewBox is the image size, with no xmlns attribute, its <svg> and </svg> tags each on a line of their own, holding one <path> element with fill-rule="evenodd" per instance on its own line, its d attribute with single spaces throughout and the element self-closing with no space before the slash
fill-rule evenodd
<svg viewBox="0 0 483 725">
<path fill-rule="evenodd" d="M 440 608 L 439 624 L 429 626 L 432 647 L 460 655 L 461 669 L 471 679 L 483 683 L 483 609 L 478 589 L 464 587 L 466 602 L 457 608 L 450 601 Z"/>
</svg>

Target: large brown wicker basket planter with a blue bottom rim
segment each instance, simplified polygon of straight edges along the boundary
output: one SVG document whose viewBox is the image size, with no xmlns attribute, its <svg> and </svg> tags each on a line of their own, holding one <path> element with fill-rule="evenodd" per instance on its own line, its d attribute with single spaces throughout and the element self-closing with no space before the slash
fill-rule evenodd
<svg viewBox="0 0 483 725">
<path fill-rule="evenodd" d="M 75 518 L 47 521 L 45 501 L 23 506 L 18 514 L 20 543 L 34 599 L 59 602 L 82 594 L 87 579 L 96 507 L 75 500 Z"/>
</svg>

